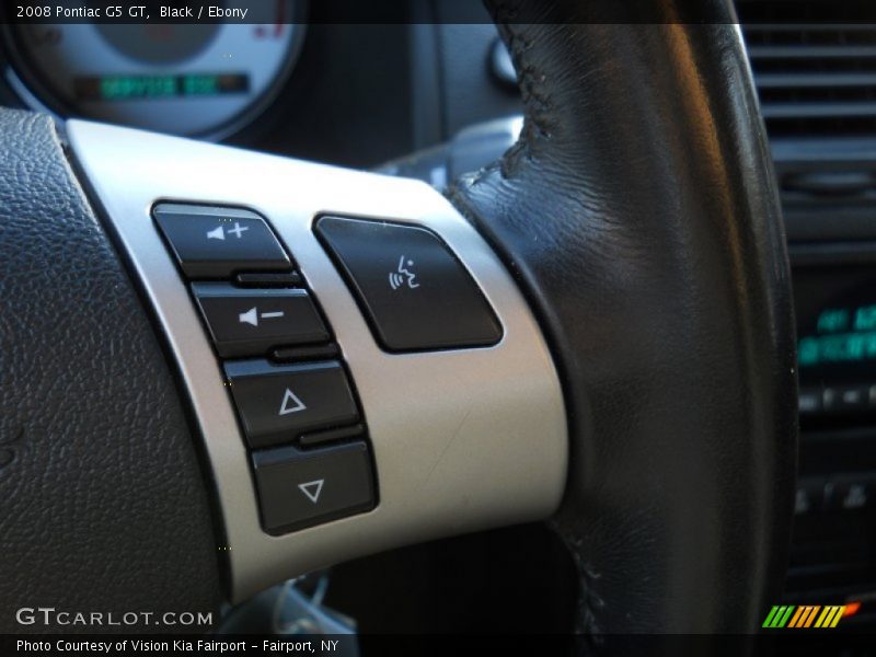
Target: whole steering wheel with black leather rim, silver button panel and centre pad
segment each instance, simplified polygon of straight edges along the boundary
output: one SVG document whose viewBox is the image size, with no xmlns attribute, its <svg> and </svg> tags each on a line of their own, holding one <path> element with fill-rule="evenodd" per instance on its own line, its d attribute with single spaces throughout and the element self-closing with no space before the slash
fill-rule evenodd
<svg viewBox="0 0 876 657">
<path fill-rule="evenodd" d="M 22 607 L 215 612 L 534 519 L 574 555 L 574 630 L 759 626 L 789 541 L 795 342 L 731 4 L 682 24 L 656 1 L 633 25 L 595 22 L 597 0 L 491 4 L 526 123 L 447 197 L 0 112 L 3 632 L 102 630 Z M 527 11 L 540 22 L 515 22 Z M 278 240 L 245 265 L 183 243 L 245 230 Z M 209 316 L 221 289 L 307 297 L 331 342 L 242 358 Z M 235 330 L 268 325 L 253 308 Z M 330 376 L 346 388 L 313 401 Z M 283 425 L 314 406 L 327 434 Z"/>
</svg>

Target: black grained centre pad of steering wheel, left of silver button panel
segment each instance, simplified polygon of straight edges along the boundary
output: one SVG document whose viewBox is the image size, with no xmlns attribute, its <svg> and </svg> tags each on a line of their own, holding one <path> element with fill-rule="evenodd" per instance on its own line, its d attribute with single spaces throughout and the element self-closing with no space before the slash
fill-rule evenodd
<svg viewBox="0 0 876 657">
<path fill-rule="evenodd" d="M 39 608 L 218 619 L 221 526 L 154 327 L 53 119 L 0 110 L 0 632 L 119 630 Z"/>
</svg>

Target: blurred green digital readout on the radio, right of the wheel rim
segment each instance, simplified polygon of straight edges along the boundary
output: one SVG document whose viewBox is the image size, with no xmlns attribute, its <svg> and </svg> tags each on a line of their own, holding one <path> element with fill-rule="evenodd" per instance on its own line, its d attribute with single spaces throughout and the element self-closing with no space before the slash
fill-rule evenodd
<svg viewBox="0 0 876 657">
<path fill-rule="evenodd" d="M 876 359 L 876 304 L 828 308 L 797 347 L 800 368 Z"/>
</svg>

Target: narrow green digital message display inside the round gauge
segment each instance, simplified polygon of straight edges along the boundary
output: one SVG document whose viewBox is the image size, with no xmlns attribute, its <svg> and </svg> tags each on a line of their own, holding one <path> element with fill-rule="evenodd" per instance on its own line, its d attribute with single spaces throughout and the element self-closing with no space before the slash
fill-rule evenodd
<svg viewBox="0 0 876 657">
<path fill-rule="evenodd" d="M 103 76 L 77 78 L 73 84 L 77 97 L 83 101 L 134 101 L 245 93 L 250 78 L 244 73 Z"/>
</svg>

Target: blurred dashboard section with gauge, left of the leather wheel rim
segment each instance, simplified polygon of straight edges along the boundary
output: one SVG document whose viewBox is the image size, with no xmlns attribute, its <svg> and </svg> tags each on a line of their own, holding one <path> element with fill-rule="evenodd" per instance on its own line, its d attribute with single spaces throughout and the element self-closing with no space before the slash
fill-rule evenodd
<svg viewBox="0 0 876 657">
<path fill-rule="evenodd" d="M 265 2 L 264 23 L 9 22 L 0 104 L 373 168 L 520 111 L 479 3 L 463 24 L 428 4 L 410 24 L 332 24 L 295 0 Z"/>
</svg>

